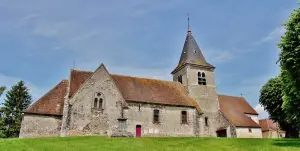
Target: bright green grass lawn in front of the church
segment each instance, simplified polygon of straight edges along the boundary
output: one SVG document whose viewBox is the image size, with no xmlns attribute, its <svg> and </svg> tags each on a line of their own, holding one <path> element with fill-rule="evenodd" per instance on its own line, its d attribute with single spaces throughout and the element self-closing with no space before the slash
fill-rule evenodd
<svg viewBox="0 0 300 151">
<path fill-rule="evenodd" d="M 300 139 L 106 138 L 0 139 L 0 151 L 300 151 Z"/>
</svg>

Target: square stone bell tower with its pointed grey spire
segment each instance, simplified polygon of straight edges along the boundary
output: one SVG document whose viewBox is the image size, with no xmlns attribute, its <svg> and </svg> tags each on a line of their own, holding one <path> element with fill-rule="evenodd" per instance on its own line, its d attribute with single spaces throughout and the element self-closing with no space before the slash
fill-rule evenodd
<svg viewBox="0 0 300 151">
<path fill-rule="evenodd" d="M 177 67 L 172 71 L 173 81 L 180 82 L 189 96 L 200 105 L 199 135 L 216 136 L 219 101 L 214 79 L 215 67 L 209 64 L 188 25 L 188 31 Z"/>
</svg>

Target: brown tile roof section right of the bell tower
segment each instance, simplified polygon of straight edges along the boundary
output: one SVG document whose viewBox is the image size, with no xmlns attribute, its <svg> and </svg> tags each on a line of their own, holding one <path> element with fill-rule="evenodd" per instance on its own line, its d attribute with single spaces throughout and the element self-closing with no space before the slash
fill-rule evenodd
<svg viewBox="0 0 300 151">
<path fill-rule="evenodd" d="M 218 95 L 220 110 L 236 127 L 260 127 L 245 114 L 258 115 L 243 97 Z"/>
</svg>

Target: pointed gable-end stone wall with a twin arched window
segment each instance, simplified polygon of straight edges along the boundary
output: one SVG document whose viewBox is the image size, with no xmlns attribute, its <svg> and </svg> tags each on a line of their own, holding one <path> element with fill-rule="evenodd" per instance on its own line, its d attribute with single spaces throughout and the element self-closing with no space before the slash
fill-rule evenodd
<svg viewBox="0 0 300 151">
<path fill-rule="evenodd" d="M 103 95 L 104 109 L 95 109 L 95 94 Z M 67 135 L 108 135 L 118 128 L 123 98 L 104 66 L 70 99 Z"/>
</svg>

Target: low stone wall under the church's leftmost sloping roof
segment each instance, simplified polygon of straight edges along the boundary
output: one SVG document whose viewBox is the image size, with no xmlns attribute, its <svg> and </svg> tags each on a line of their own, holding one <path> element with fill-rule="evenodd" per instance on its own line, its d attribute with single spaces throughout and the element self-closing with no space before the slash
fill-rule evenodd
<svg viewBox="0 0 300 151">
<path fill-rule="evenodd" d="M 60 136 L 61 117 L 25 114 L 23 116 L 20 138 Z"/>
</svg>

